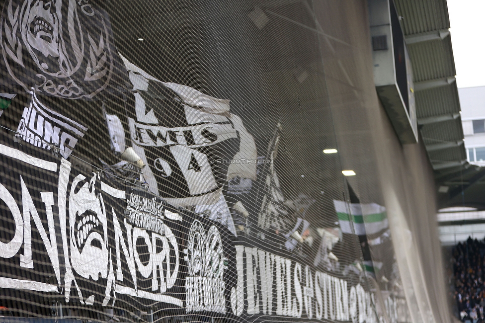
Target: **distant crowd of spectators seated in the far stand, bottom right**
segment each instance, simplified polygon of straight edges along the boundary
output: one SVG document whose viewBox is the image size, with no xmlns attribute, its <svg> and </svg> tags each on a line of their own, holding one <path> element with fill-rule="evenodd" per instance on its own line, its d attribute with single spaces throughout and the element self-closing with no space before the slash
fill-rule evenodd
<svg viewBox="0 0 485 323">
<path fill-rule="evenodd" d="M 485 323 L 485 241 L 468 238 L 453 249 L 453 273 L 459 317 Z"/>
</svg>

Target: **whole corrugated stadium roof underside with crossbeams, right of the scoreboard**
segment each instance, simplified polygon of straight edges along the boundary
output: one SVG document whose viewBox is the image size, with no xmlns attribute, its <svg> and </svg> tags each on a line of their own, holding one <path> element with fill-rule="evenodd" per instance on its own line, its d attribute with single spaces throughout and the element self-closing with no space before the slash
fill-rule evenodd
<svg viewBox="0 0 485 323">
<path fill-rule="evenodd" d="M 395 0 L 409 50 L 420 135 L 435 172 L 440 206 L 485 209 L 475 192 L 485 175 L 467 161 L 446 0 Z M 466 194 L 465 194 L 466 191 Z"/>
</svg>

